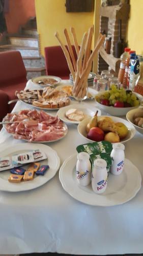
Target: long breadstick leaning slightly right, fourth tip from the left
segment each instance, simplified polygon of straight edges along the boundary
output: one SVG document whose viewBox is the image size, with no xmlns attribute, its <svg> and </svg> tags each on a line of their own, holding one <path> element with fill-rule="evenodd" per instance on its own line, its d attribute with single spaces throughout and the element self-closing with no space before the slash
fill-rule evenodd
<svg viewBox="0 0 143 256">
<path fill-rule="evenodd" d="M 78 59 L 77 59 L 77 72 L 76 72 L 76 75 L 75 75 L 74 89 L 76 88 L 76 84 L 79 81 L 79 73 L 80 73 L 80 69 L 81 69 L 81 65 L 82 65 L 82 57 L 84 55 L 84 50 L 85 50 L 85 44 L 86 44 L 86 41 L 87 41 L 87 37 L 88 37 L 88 33 L 85 32 L 83 37 L 82 37 L 81 47 L 80 47 L 80 51 L 79 51 Z M 73 92 L 74 92 L 74 89 L 73 89 Z"/>
</svg>

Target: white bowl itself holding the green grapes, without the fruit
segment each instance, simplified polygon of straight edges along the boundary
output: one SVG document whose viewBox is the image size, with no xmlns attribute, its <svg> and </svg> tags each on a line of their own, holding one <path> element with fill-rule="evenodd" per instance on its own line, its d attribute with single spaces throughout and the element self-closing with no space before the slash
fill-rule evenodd
<svg viewBox="0 0 143 256">
<path fill-rule="evenodd" d="M 96 96 L 100 96 L 104 92 L 107 92 L 107 91 L 102 91 L 96 94 Z M 139 98 L 141 102 L 143 97 L 138 93 L 134 93 L 134 94 Z M 104 110 L 106 113 L 110 114 L 111 116 L 125 116 L 127 112 L 129 112 L 130 110 L 138 108 L 138 106 L 131 106 L 129 108 L 115 108 L 115 106 L 106 106 L 97 101 L 96 101 L 96 104 L 100 109 Z"/>
</svg>

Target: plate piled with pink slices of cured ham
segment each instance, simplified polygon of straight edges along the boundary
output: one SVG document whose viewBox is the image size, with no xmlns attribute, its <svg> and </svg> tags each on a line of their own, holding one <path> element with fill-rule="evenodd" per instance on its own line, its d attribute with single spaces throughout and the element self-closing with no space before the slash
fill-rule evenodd
<svg viewBox="0 0 143 256">
<path fill-rule="evenodd" d="M 21 110 L 8 113 L 3 119 L 3 126 L 14 139 L 29 142 L 47 143 L 64 138 L 67 125 L 58 116 L 48 115 L 44 111 Z"/>
</svg>

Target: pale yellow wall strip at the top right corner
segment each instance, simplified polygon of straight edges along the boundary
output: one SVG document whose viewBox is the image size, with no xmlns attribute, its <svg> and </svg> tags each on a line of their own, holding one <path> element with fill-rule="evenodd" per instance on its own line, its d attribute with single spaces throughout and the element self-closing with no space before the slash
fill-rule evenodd
<svg viewBox="0 0 143 256">
<path fill-rule="evenodd" d="M 128 45 L 137 54 L 143 54 L 143 0 L 130 0 L 130 19 L 128 24 Z"/>
</svg>

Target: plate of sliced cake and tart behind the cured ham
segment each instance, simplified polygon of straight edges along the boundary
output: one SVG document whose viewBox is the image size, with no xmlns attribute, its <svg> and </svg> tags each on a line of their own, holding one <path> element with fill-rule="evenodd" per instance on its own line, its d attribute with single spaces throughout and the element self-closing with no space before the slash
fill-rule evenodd
<svg viewBox="0 0 143 256">
<path fill-rule="evenodd" d="M 41 90 L 16 91 L 15 95 L 19 100 L 43 110 L 58 110 L 71 103 L 66 92 L 50 87 Z"/>
</svg>

